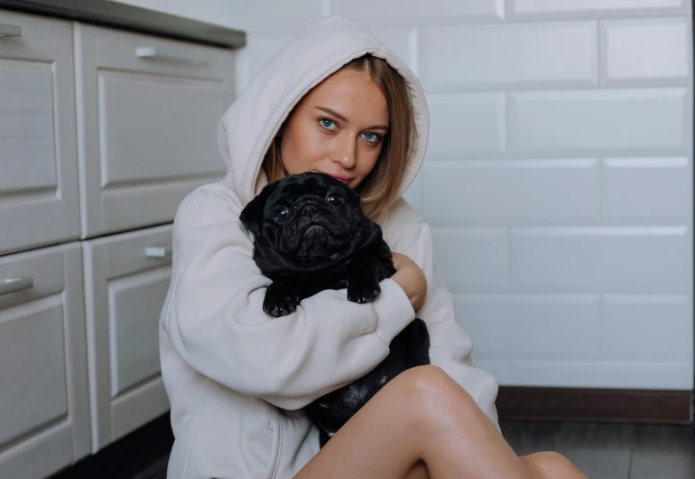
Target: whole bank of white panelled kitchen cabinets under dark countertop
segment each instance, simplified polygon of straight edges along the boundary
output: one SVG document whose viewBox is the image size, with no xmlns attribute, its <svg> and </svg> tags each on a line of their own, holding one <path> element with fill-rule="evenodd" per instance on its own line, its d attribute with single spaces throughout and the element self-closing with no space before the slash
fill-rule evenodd
<svg viewBox="0 0 695 479">
<path fill-rule="evenodd" d="M 218 122 L 245 42 L 48 4 L 0 9 L 0 479 L 48 477 L 170 408 L 171 221 L 226 172 Z"/>
</svg>

